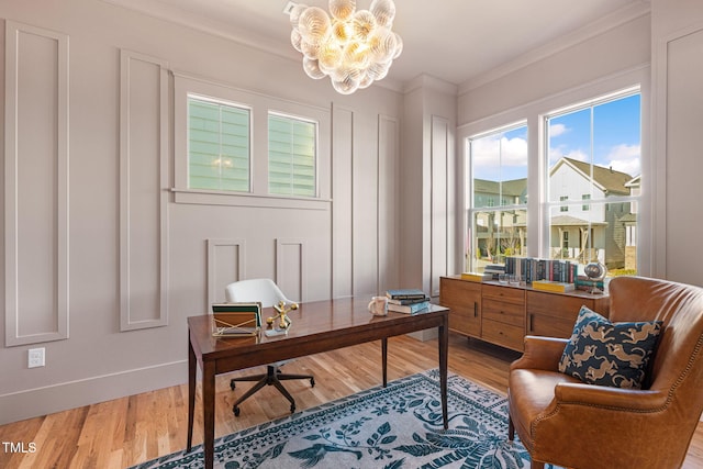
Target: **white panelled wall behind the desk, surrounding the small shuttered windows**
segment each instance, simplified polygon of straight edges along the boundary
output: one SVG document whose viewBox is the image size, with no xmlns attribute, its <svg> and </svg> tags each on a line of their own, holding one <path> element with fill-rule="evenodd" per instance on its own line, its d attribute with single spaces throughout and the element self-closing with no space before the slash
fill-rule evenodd
<svg viewBox="0 0 703 469">
<path fill-rule="evenodd" d="M 9 20 L 1 23 L 3 31 L 8 24 L 11 31 L 37 29 L 38 45 L 26 46 L 31 34 L 22 33 L 22 47 L 45 57 L 21 53 L 20 67 L 29 67 L 22 77 L 32 79 L 11 83 L 11 99 L 4 96 L 0 57 L 3 98 L 14 102 L 19 97 L 21 113 L 46 115 L 46 122 L 37 122 L 41 132 L 26 120 L 15 122 L 11 113 L 3 127 L 38 146 L 30 152 L 23 144 L 15 153 L 3 145 L 5 163 L 21 161 L 21 170 L 16 185 L 12 176 L 0 191 L 5 215 L 0 283 L 5 305 L 13 306 L 5 308 L 0 322 L 5 338 L 0 424 L 185 382 L 186 317 L 204 313 L 212 294 L 224 299 L 220 287 L 228 281 L 270 277 L 300 300 L 370 295 L 399 286 L 394 214 L 401 94 L 372 87 L 342 97 L 328 81 L 308 78 L 300 62 L 99 0 L 2 2 L 0 18 Z M 67 59 L 54 54 L 54 33 L 66 40 Z M 7 44 L 3 35 L 0 54 Z M 146 60 L 137 60 L 126 78 L 124 51 Z M 56 79 L 63 67 L 65 93 Z M 292 206 L 280 200 L 267 200 L 266 206 L 254 201 L 242 206 L 177 203 L 185 196 L 170 191 L 179 132 L 171 71 L 326 113 L 328 126 L 321 135 L 326 150 L 320 155 L 323 200 Z M 132 104 L 125 114 L 121 99 L 126 92 Z M 66 101 L 55 101 L 57 96 Z M 62 116 L 67 119 L 65 141 L 60 132 L 58 137 L 53 133 Z M 65 178 L 56 166 L 62 148 Z M 265 166 L 266 157 L 266 148 L 255 147 L 257 167 Z M 15 175 L 14 166 L 7 168 Z M 31 169 L 49 186 L 33 188 Z M 8 193 L 31 204 L 15 210 L 7 204 Z M 56 209 L 54 197 L 65 200 L 64 211 Z M 15 239 L 7 223 L 14 215 L 42 237 Z M 125 239 L 132 252 L 146 253 L 131 258 L 126 283 Z M 32 244 L 41 247 L 35 254 Z M 62 253 L 66 269 L 51 260 Z M 15 275 L 13 266 L 30 273 Z M 19 302 L 9 301 L 15 288 Z M 133 320 L 126 327 L 125 314 Z M 45 347 L 46 366 L 27 369 L 27 349 L 36 346 Z"/>
</svg>

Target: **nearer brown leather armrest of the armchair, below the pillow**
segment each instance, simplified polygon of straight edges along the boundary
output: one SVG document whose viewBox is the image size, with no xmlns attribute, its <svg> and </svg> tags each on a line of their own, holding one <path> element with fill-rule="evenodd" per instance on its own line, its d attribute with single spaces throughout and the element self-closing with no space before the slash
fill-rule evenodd
<svg viewBox="0 0 703 469">
<path fill-rule="evenodd" d="M 661 410 L 668 393 L 641 389 L 610 388 L 585 383 L 561 382 L 554 390 L 557 405 L 585 405 L 631 412 Z"/>
</svg>

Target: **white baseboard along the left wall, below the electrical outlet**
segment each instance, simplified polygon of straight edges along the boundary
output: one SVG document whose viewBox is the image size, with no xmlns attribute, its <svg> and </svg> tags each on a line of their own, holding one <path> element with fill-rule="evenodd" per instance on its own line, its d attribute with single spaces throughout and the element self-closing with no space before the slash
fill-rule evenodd
<svg viewBox="0 0 703 469">
<path fill-rule="evenodd" d="M 63 382 L 0 395 L 0 425 L 188 381 L 188 361 Z"/>
</svg>

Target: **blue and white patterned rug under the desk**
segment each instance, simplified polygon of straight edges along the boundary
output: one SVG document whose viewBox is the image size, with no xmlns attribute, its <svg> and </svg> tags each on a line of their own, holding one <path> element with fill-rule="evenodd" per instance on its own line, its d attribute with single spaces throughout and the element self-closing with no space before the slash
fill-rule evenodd
<svg viewBox="0 0 703 469">
<path fill-rule="evenodd" d="M 215 440 L 215 467 L 465 468 L 529 467 L 507 440 L 507 401 L 449 376 L 449 429 L 442 425 L 437 370 L 413 375 Z M 201 468 L 202 447 L 135 468 Z"/>
</svg>

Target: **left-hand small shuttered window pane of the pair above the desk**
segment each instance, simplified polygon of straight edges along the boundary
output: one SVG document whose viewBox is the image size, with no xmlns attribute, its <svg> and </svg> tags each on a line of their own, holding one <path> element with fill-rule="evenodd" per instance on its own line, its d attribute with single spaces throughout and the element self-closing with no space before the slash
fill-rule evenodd
<svg viewBox="0 0 703 469">
<path fill-rule="evenodd" d="M 188 187 L 248 192 L 250 111 L 188 96 Z"/>
</svg>

